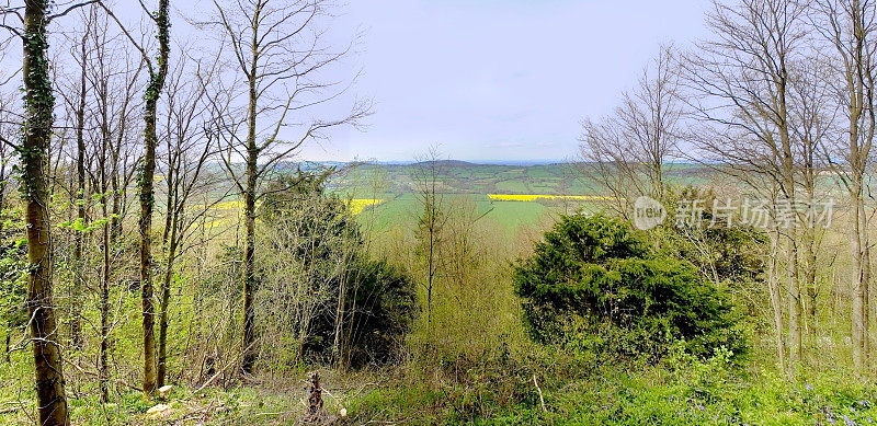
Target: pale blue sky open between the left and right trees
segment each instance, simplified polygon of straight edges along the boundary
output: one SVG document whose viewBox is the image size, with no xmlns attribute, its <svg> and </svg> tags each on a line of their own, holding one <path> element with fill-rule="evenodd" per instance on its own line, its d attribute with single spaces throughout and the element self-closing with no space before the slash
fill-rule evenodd
<svg viewBox="0 0 877 426">
<path fill-rule="evenodd" d="M 212 7 L 196 0 L 194 8 Z M 348 0 L 331 39 L 362 33 L 333 78 L 362 74 L 362 130 L 309 143 L 306 160 L 412 161 L 437 146 L 468 161 L 573 159 L 580 120 L 617 105 L 661 44 L 705 33 L 708 0 Z M 348 99 L 338 108 L 349 108 Z"/>
</svg>

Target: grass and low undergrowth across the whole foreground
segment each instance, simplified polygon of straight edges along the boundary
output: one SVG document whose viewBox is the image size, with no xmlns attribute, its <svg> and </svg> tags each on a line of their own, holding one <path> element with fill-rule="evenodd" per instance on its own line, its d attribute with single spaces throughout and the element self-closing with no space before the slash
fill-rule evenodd
<svg viewBox="0 0 877 426">
<path fill-rule="evenodd" d="M 25 352 L 0 364 L 0 423 L 33 424 Z M 842 372 L 788 380 L 772 369 L 739 370 L 727 359 L 670 358 L 657 366 L 605 362 L 533 348 L 508 360 L 457 359 L 341 373 L 321 370 L 326 408 L 346 424 L 555 425 L 869 425 L 877 422 L 877 385 Z M 70 371 L 72 372 L 72 371 Z M 69 408 L 76 425 L 293 425 L 305 408 L 307 372 L 259 385 L 194 389 L 175 384 L 168 401 L 148 401 L 117 388 L 102 404 L 90 378 L 70 373 Z M 537 378 L 539 388 L 534 384 Z M 539 393 L 545 401 L 539 400 Z M 170 405 L 166 417 L 147 411 Z"/>
</svg>

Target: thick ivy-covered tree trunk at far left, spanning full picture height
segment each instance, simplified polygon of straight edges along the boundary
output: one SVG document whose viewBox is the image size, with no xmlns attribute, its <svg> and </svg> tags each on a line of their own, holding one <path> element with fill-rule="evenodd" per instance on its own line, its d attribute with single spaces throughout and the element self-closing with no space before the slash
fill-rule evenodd
<svg viewBox="0 0 877 426">
<path fill-rule="evenodd" d="M 48 77 L 46 49 L 46 0 L 27 0 L 24 8 L 25 123 L 20 147 L 24 170 L 22 186 L 25 199 L 27 233 L 27 312 L 31 316 L 36 373 L 36 398 L 41 425 L 69 425 L 65 394 L 61 348 L 56 342 L 58 327 L 52 297 L 52 235 L 48 217 L 46 165 L 52 137 L 55 99 Z"/>
</svg>

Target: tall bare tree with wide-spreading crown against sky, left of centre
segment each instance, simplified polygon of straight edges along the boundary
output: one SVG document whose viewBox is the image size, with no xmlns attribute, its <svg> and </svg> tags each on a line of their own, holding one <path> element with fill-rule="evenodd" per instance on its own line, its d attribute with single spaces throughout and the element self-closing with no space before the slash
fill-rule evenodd
<svg viewBox="0 0 877 426">
<path fill-rule="evenodd" d="M 320 20 L 331 18 L 324 0 L 214 0 L 230 66 L 242 80 L 246 99 L 237 108 L 237 87 L 212 95 L 216 111 L 225 117 L 219 137 L 223 160 L 243 199 L 246 228 L 243 278 L 243 355 L 241 367 L 252 372 L 255 361 L 253 293 L 257 286 L 257 200 L 261 182 L 308 140 L 342 125 L 356 125 L 368 114 L 368 105 L 356 103 L 350 114 L 334 119 L 307 118 L 312 107 L 339 97 L 349 85 L 326 82 L 321 72 L 337 64 L 350 48 L 334 51 L 323 42 Z M 240 110 L 240 111 L 239 111 Z M 237 119 L 240 116 L 240 119 Z M 284 135 L 298 133 L 286 139 Z M 243 161 L 241 171 L 236 164 Z"/>
</svg>

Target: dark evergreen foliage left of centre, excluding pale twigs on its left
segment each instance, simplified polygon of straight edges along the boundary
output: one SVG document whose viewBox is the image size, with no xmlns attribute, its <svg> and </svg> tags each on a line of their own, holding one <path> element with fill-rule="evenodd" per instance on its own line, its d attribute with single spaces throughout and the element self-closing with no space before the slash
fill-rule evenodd
<svg viewBox="0 0 877 426">
<path fill-rule="evenodd" d="M 386 262 L 368 257 L 345 204 L 326 193 L 327 176 L 299 171 L 269 185 L 263 204 L 266 224 L 297 235 L 272 239 L 270 250 L 299 260 L 308 269 L 307 303 L 317 308 L 307 320 L 305 358 L 341 360 L 352 367 L 384 364 L 397 353 L 414 316 L 414 286 Z M 339 329 L 342 353 L 335 354 Z"/>
</svg>

